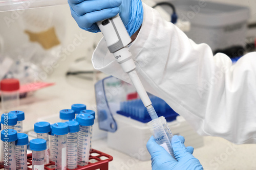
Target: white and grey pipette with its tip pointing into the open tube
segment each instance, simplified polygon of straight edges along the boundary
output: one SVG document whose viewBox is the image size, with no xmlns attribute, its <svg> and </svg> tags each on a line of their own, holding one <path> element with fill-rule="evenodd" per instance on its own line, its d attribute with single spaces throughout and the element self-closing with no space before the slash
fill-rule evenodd
<svg viewBox="0 0 256 170">
<path fill-rule="evenodd" d="M 136 65 L 132 59 L 129 47 L 127 46 L 131 43 L 132 39 L 127 33 L 119 14 L 113 18 L 98 21 L 97 25 L 106 40 L 110 53 L 114 55 L 123 71 L 129 75 L 151 118 L 158 118 L 151 100 L 148 98 L 148 95 L 135 70 Z"/>
</svg>

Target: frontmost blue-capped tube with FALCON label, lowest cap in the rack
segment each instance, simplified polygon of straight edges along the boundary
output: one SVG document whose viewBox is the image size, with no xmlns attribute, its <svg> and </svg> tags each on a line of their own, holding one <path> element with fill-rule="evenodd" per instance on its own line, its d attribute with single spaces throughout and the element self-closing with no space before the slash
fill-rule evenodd
<svg viewBox="0 0 256 170">
<path fill-rule="evenodd" d="M 32 150 L 32 169 L 44 170 L 45 169 L 45 139 L 32 139 L 29 142 L 29 148 Z"/>
</svg>

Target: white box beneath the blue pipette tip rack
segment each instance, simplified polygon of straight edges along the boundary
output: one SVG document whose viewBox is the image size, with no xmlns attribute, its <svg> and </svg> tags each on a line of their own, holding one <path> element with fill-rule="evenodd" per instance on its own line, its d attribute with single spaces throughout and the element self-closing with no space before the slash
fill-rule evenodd
<svg viewBox="0 0 256 170">
<path fill-rule="evenodd" d="M 147 123 L 115 114 L 117 131 L 108 132 L 108 147 L 127 154 L 141 161 L 150 160 L 151 156 L 147 152 L 146 143 L 152 136 L 147 127 Z M 203 146 L 203 137 L 198 135 L 185 119 L 178 116 L 173 122 L 167 123 L 174 135 L 185 137 L 185 145 L 194 148 Z"/>
</svg>

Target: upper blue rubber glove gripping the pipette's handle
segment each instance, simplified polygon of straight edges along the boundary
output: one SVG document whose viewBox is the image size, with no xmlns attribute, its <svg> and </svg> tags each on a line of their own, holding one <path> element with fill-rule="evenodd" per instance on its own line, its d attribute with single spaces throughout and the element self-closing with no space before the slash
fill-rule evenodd
<svg viewBox="0 0 256 170">
<path fill-rule="evenodd" d="M 68 0 L 68 3 L 78 26 L 93 33 L 100 32 L 95 22 L 118 13 L 130 36 L 140 28 L 143 21 L 141 0 Z"/>
</svg>

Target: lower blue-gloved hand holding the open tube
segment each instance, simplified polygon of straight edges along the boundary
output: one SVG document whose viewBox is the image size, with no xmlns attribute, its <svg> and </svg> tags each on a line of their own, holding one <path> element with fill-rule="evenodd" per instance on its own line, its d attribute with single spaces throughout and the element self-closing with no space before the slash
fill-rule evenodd
<svg viewBox="0 0 256 170">
<path fill-rule="evenodd" d="M 146 147 L 151 155 L 152 170 L 198 170 L 203 169 L 199 160 L 196 159 L 192 153 L 191 148 L 186 148 L 184 145 L 184 137 L 174 136 L 172 139 L 172 146 L 174 149 L 175 160 L 167 151 L 156 143 L 152 136 L 148 140 Z"/>
</svg>

